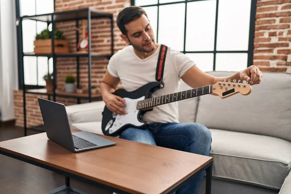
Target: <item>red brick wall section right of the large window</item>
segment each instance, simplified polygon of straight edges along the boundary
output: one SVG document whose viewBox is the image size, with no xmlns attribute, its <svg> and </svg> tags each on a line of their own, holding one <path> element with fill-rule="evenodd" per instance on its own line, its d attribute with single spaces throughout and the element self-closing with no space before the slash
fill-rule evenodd
<svg viewBox="0 0 291 194">
<path fill-rule="evenodd" d="M 254 65 L 291 72 L 291 0 L 258 0 Z"/>
</svg>

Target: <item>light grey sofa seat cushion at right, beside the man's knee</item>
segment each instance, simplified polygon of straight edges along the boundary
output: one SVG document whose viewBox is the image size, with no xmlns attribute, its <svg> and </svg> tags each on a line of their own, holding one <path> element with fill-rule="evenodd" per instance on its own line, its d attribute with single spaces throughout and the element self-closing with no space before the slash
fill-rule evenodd
<svg viewBox="0 0 291 194">
<path fill-rule="evenodd" d="M 213 176 L 280 189 L 291 169 L 291 143 L 275 137 L 210 129 Z"/>
</svg>

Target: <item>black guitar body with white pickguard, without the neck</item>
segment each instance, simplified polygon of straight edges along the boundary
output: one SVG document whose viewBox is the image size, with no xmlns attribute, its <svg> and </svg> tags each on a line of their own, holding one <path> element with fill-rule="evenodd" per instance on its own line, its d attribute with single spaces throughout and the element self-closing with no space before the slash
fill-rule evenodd
<svg viewBox="0 0 291 194">
<path fill-rule="evenodd" d="M 102 113 L 102 132 L 108 136 L 118 136 L 122 131 L 129 127 L 147 129 L 149 123 L 143 121 L 143 115 L 147 111 L 152 111 L 153 109 L 137 110 L 136 102 L 150 98 L 152 93 L 160 88 L 160 83 L 153 81 L 132 92 L 128 92 L 125 89 L 116 90 L 113 94 L 122 97 L 126 101 L 126 107 L 124 107 L 124 110 L 127 114 L 119 115 L 113 113 L 105 106 Z"/>
</svg>

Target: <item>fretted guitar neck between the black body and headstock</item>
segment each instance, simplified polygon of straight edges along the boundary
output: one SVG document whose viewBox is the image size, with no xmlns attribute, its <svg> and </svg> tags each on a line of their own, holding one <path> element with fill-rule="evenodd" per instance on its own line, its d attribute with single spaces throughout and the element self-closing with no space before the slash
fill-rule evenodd
<svg viewBox="0 0 291 194">
<path fill-rule="evenodd" d="M 212 93 L 212 85 L 207 85 L 199 88 L 194 88 L 192 90 L 186 90 L 182 92 L 177 92 L 173 94 L 168 94 L 160 97 L 151 97 L 144 100 L 139 100 L 137 102 L 137 109 L 147 109 L 154 106 L 159 106 L 162 104 L 167 104 L 179 100 L 184 100 L 192 97 L 198 97 L 206 94 Z"/>
</svg>

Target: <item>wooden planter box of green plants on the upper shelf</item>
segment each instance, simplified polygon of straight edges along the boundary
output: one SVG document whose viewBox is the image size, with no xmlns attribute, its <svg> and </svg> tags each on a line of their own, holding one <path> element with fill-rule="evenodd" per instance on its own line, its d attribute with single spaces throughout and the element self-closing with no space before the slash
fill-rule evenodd
<svg viewBox="0 0 291 194">
<path fill-rule="evenodd" d="M 49 54 L 51 53 L 51 32 L 45 29 L 39 34 L 36 34 L 33 41 L 35 54 Z M 64 32 L 55 28 L 54 30 L 54 51 L 55 53 L 68 53 L 69 43 L 65 40 Z"/>
</svg>

